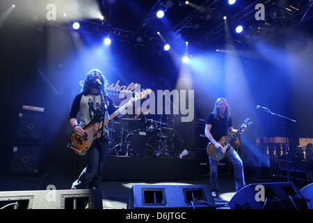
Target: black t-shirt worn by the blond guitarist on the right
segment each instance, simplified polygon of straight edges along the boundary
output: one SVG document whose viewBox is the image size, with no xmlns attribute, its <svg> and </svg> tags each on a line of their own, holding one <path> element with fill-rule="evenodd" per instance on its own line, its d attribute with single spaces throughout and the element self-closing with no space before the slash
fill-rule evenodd
<svg viewBox="0 0 313 223">
<path fill-rule="evenodd" d="M 214 114 L 211 113 L 209 116 L 207 116 L 207 120 L 205 121 L 206 124 L 212 125 L 211 127 L 211 134 L 212 137 L 219 141 L 220 137 L 223 137 L 224 135 L 227 135 L 227 129 L 232 127 L 232 118 L 230 117 L 227 121 L 226 117 L 224 118 L 215 118 Z"/>
</svg>

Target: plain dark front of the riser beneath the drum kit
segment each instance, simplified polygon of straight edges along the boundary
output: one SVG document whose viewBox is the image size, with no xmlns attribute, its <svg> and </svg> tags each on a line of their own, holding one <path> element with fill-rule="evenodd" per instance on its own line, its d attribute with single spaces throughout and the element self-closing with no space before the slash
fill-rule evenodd
<svg viewBox="0 0 313 223">
<path fill-rule="evenodd" d="M 108 155 L 104 180 L 193 180 L 199 168 L 195 159 Z"/>
</svg>

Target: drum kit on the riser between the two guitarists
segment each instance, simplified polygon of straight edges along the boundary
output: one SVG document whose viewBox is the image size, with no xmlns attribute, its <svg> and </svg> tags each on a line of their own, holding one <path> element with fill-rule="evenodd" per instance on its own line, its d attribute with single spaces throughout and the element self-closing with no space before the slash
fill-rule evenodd
<svg viewBox="0 0 313 223">
<path fill-rule="evenodd" d="M 127 156 L 172 156 L 175 131 L 166 115 L 120 118 L 111 122 L 108 153 Z"/>
</svg>

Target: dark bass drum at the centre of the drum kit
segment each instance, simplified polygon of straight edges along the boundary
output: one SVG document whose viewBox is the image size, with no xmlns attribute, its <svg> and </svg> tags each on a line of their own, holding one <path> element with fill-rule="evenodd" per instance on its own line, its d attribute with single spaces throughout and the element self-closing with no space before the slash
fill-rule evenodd
<svg viewBox="0 0 313 223">
<path fill-rule="evenodd" d="M 127 145 L 127 155 L 149 156 L 154 155 L 157 145 L 157 137 L 147 130 L 134 130 L 127 134 L 125 138 Z"/>
</svg>

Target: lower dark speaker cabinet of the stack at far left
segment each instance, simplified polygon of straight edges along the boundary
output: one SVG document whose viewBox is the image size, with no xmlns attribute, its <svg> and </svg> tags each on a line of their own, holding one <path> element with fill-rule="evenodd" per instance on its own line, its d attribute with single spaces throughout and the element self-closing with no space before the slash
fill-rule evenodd
<svg viewBox="0 0 313 223">
<path fill-rule="evenodd" d="M 10 162 L 11 174 L 37 174 L 40 165 L 41 145 L 13 146 Z"/>
</svg>

